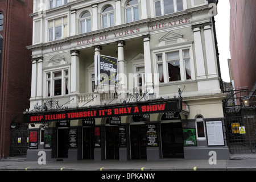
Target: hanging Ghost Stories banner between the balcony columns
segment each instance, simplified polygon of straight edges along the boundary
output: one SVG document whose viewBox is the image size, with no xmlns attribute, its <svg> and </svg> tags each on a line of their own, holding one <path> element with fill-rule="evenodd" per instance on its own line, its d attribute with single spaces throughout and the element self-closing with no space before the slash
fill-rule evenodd
<svg viewBox="0 0 256 182">
<path fill-rule="evenodd" d="M 118 60 L 115 57 L 97 55 L 94 57 L 96 85 L 117 86 Z"/>
</svg>

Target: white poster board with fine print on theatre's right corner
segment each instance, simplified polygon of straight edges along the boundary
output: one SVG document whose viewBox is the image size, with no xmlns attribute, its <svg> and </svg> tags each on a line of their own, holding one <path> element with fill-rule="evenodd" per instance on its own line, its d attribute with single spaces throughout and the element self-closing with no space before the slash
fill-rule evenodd
<svg viewBox="0 0 256 182">
<path fill-rule="evenodd" d="M 222 121 L 208 121 L 206 127 L 208 146 L 224 146 Z"/>
</svg>

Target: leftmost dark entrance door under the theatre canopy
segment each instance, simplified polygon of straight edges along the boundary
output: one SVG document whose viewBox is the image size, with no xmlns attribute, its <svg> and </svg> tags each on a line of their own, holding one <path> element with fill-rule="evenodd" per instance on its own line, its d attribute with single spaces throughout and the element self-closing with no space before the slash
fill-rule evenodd
<svg viewBox="0 0 256 182">
<path fill-rule="evenodd" d="M 58 158 L 68 158 L 69 129 L 58 129 Z"/>
</svg>

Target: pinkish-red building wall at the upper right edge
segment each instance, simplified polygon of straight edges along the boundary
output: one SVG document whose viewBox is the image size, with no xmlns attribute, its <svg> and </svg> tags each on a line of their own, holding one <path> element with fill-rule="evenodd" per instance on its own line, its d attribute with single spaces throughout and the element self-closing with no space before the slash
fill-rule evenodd
<svg viewBox="0 0 256 182">
<path fill-rule="evenodd" d="M 247 86 L 255 92 L 255 46 L 256 1 L 230 0 L 230 53 L 236 88 Z"/>
</svg>

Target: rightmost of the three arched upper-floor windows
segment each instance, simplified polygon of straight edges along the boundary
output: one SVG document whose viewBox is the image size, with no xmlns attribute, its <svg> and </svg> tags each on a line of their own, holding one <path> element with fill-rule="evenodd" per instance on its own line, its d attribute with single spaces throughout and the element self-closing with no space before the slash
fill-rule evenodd
<svg viewBox="0 0 256 182">
<path fill-rule="evenodd" d="M 139 20 L 138 0 L 131 0 L 126 3 L 126 23 Z"/>
</svg>

